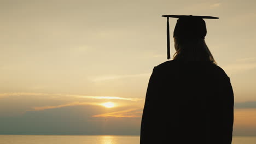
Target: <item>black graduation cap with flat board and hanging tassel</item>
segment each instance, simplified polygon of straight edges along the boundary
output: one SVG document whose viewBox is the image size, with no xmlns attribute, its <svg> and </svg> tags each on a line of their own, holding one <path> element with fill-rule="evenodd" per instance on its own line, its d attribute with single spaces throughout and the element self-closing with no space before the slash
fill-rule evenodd
<svg viewBox="0 0 256 144">
<path fill-rule="evenodd" d="M 203 19 L 219 19 L 213 16 L 193 16 L 193 15 L 162 15 L 167 17 L 167 59 L 170 59 L 170 30 L 169 17 L 178 18 L 174 28 L 173 37 L 178 38 L 205 38 L 206 25 Z"/>
</svg>

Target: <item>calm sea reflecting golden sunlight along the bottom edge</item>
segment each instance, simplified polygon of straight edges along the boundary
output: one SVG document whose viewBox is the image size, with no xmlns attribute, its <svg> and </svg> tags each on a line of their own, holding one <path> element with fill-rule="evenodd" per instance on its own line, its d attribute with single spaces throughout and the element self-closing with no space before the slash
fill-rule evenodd
<svg viewBox="0 0 256 144">
<path fill-rule="evenodd" d="M 139 136 L 0 135 L 0 144 L 139 144 Z M 256 136 L 234 136 L 232 144 L 255 144 Z"/>
</svg>

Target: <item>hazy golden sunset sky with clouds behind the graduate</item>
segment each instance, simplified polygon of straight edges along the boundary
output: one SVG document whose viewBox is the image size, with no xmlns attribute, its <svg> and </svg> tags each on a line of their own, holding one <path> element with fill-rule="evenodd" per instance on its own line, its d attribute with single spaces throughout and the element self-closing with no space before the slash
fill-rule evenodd
<svg viewBox="0 0 256 144">
<path fill-rule="evenodd" d="M 233 135 L 256 136 L 255 7 L 0 0 L 0 134 L 139 135 L 149 76 L 167 61 L 161 15 L 173 14 L 219 17 L 205 20 L 205 40 L 234 89 Z"/>
</svg>

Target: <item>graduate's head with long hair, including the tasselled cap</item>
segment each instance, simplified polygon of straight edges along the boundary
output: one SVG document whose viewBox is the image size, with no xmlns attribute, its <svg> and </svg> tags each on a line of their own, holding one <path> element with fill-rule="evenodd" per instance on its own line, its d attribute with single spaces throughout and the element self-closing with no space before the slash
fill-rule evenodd
<svg viewBox="0 0 256 144">
<path fill-rule="evenodd" d="M 170 59 L 169 17 L 178 18 L 173 31 L 176 53 L 173 59 L 179 61 L 206 61 L 216 64 L 205 43 L 206 22 L 203 19 L 219 19 L 213 16 L 162 15 L 167 17 L 167 59 Z"/>
</svg>

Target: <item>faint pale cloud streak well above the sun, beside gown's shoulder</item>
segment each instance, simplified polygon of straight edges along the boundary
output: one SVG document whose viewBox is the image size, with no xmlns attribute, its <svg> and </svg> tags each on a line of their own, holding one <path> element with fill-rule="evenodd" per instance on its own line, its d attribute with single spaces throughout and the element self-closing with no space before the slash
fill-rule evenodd
<svg viewBox="0 0 256 144">
<path fill-rule="evenodd" d="M 131 77 L 149 77 L 150 73 L 146 74 L 135 74 L 135 75 L 108 75 L 108 76 L 98 76 L 92 78 L 92 81 L 106 81 L 106 80 L 114 80 L 114 79 L 126 79 Z"/>
</svg>

